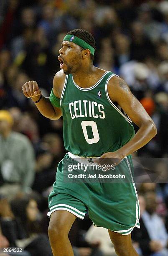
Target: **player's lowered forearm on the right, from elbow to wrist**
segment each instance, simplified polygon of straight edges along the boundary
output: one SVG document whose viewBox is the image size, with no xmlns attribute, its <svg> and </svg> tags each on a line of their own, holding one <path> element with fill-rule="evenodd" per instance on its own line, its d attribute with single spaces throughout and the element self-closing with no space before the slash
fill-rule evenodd
<svg viewBox="0 0 168 256">
<path fill-rule="evenodd" d="M 145 146 L 156 135 L 156 132 L 155 124 L 152 120 L 149 120 L 141 125 L 135 136 L 116 152 L 121 154 L 124 158 Z"/>
</svg>

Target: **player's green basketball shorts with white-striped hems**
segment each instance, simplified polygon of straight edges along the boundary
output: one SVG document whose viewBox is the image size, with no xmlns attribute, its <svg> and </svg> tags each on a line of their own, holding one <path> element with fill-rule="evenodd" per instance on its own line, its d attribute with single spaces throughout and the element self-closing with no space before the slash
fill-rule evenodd
<svg viewBox="0 0 168 256">
<path fill-rule="evenodd" d="M 56 210 L 66 210 L 84 219 L 88 211 L 89 218 L 95 226 L 122 235 L 130 234 L 134 227 L 140 228 L 140 207 L 132 177 L 131 156 L 125 157 L 115 168 L 116 173 L 124 173 L 130 182 L 113 183 L 87 183 L 82 179 L 78 179 L 77 182 L 74 179 L 66 182 L 64 173 L 67 174 L 67 163 L 78 163 L 76 158 L 80 157 L 67 153 L 59 162 L 56 182 L 48 197 L 48 216 Z"/>
</svg>

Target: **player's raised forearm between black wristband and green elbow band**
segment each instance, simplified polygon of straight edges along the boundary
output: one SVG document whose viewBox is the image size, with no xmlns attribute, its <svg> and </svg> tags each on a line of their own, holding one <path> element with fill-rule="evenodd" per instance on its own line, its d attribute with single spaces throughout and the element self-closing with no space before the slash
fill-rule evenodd
<svg viewBox="0 0 168 256">
<path fill-rule="evenodd" d="M 38 97 L 39 98 L 39 97 Z M 31 97 L 33 101 L 36 101 L 34 97 Z M 38 100 L 38 99 L 37 99 Z M 51 102 L 48 98 L 42 97 L 42 99 L 35 104 L 40 113 L 51 120 L 57 120 L 60 118 L 60 113 L 56 113 Z"/>
</svg>

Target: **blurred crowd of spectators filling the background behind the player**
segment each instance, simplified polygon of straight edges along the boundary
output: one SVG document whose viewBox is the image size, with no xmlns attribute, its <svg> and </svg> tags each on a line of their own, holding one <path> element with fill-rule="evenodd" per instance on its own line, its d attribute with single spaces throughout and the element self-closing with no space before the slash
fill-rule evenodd
<svg viewBox="0 0 168 256">
<path fill-rule="evenodd" d="M 39 114 L 22 85 L 36 81 L 49 97 L 60 69 L 61 42 L 75 28 L 92 33 L 94 65 L 122 77 L 157 126 L 155 138 L 136 156 L 168 157 L 168 1 L 1 0 L 0 250 L 18 247 L 24 248 L 18 255 L 52 255 L 47 198 L 66 153 L 62 119 Z M 164 165 L 157 168 L 161 172 Z M 137 186 L 141 229 L 132 239 L 144 256 L 168 255 L 166 182 Z M 69 235 L 74 255 L 115 255 L 106 231 L 94 229 L 88 216 L 77 219 Z"/>
</svg>

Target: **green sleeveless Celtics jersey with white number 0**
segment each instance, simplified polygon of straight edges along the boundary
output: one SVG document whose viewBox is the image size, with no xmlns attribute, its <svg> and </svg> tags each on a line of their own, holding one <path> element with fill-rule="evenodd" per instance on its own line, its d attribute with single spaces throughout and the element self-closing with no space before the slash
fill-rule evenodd
<svg viewBox="0 0 168 256">
<path fill-rule="evenodd" d="M 78 156 L 101 156 L 124 146 L 134 136 L 130 118 L 109 98 L 110 71 L 90 88 L 75 84 L 66 75 L 61 95 L 64 145 Z"/>
</svg>

